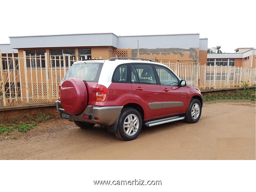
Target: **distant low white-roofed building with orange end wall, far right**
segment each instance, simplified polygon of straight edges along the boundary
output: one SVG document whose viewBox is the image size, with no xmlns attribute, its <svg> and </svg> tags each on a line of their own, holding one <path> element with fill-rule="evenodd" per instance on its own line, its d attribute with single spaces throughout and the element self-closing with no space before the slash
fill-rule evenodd
<svg viewBox="0 0 256 192">
<path fill-rule="evenodd" d="M 235 51 L 235 53 L 207 54 L 207 65 L 256 68 L 256 50 L 254 48 L 237 48 Z"/>
</svg>

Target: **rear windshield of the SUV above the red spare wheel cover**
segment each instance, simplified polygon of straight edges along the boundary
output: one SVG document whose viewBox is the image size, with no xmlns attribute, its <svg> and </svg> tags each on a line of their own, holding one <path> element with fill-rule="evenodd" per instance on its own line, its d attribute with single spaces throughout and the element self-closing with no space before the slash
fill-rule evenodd
<svg viewBox="0 0 256 192">
<path fill-rule="evenodd" d="M 66 73 L 63 80 L 78 77 L 87 82 L 98 82 L 103 63 L 76 63 Z"/>
</svg>

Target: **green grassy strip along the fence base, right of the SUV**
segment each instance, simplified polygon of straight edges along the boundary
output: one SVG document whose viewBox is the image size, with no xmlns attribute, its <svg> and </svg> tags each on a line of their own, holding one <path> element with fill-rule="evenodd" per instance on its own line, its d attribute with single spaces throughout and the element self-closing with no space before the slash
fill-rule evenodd
<svg viewBox="0 0 256 192">
<path fill-rule="evenodd" d="M 249 101 L 255 102 L 255 88 L 245 90 L 225 90 L 218 92 L 202 92 L 205 102 L 214 101 Z"/>
</svg>

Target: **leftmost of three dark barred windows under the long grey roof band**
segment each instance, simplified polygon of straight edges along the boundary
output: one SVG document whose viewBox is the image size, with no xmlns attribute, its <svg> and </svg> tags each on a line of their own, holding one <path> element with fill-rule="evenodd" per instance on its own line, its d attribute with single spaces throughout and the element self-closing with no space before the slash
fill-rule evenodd
<svg viewBox="0 0 256 192">
<path fill-rule="evenodd" d="M 45 68 L 45 49 L 38 50 L 25 50 L 26 51 L 26 63 L 27 68 Z M 40 60 L 41 56 L 41 60 Z"/>
</svg>

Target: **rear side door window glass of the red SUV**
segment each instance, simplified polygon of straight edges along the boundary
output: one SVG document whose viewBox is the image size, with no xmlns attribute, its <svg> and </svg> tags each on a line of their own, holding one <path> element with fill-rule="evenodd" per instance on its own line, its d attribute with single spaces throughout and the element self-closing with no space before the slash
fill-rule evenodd
<svg viewBox="0 0 256 192">
<path fill-rule="evenodd" d="M 152 65 L 134 64 L 132 65 L 132 83 L 156 84 L 156 77 Z"/>
</svg>

